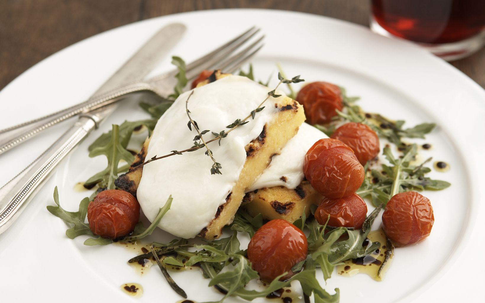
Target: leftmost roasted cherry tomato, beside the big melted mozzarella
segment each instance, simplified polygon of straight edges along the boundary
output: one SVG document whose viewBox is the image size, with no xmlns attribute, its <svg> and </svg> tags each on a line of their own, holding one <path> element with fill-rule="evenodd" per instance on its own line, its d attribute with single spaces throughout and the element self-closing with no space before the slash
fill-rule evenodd
<svg viewBox="0 0 485 303">
<path fill-rule="evenodd" d="M 88 205 L 89 229 L 104 238 L 128 235 L 139 219 L 140 204 L 126 191 L 101 191 Z"/>
</svg>

